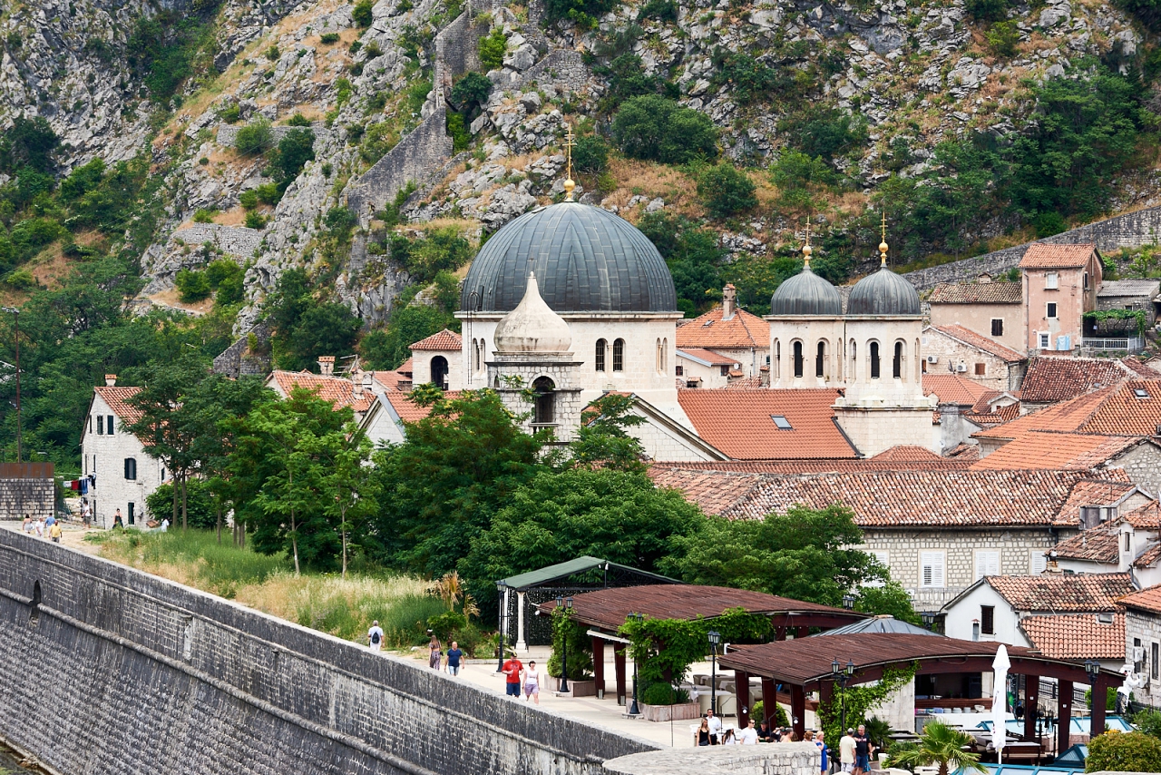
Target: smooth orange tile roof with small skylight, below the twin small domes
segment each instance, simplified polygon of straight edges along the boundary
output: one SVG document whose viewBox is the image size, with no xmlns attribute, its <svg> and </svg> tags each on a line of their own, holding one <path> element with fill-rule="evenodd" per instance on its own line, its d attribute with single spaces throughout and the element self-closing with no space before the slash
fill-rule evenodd
<svg viewBox="0 0 1161 775">
<path fill-rule="evenodd" d="M 678 390 L 682 410 L 704 440 L 735 460 L 856 458 L 835 422 L 838 390 Z M 772 416 L 786 418 L 779 429 Z"/>
</svg>

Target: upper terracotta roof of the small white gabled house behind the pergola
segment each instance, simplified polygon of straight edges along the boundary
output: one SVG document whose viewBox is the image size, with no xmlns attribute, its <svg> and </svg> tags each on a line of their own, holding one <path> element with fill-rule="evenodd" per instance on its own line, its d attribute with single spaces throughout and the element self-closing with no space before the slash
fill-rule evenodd
<svg viewBox="0 0 1161 775">
<path fill-rule="evenodd" d="M 1038 576 L 985 576 L 1017 611 L 1113 611 L 1133 591 L 1127 573 L 1061 573 Z"/>
</svg>

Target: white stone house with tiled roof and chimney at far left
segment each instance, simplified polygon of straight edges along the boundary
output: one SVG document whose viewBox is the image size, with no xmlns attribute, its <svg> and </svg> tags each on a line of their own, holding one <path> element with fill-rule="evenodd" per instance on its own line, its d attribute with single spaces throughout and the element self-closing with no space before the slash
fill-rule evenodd
<svg viewBox="0 0 1161 775">
<path fill-rule="evenodd" d="M 142 417 L 129 403 L 140 388 L 117 387 L 117 375 L 106 374 L 104 387 L 93 388 L 81 431 L 81 475 L 95 478 L 87 494 L 96 524 L 111 528 L 117 510 L 125 526 L 149 518 L 145 498 L 170 475 L 165 464 L 145 453 L 145 446 L 125 430 L 125 423 Z M 89 480 L 93 481 L 93 480 Z"/>
</svg>

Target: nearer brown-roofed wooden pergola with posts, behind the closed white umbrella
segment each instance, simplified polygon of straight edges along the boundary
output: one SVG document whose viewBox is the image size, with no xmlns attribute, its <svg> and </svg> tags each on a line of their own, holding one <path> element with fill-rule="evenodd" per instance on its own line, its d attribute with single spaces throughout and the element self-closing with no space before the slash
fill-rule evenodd
<svg viewBox="0 0 1161 775">
<path fill-rule="evenodd" d="M 990 673 L 995 660 L 997 643 L 958 640 L 954 638 L 931 638 L 910 633 L 861 633 L 835 634 L 807 640 L 788 640 L 756 646 L 735 646 L 729 653 L 720 656 L 717 662 L 726 669 L 733 669 L 736 675 L 738 725 L 747 719 L 741 717 L 742 710 L 750 706 L 750 676 L 762 677 L 763 697 L 773 697 L 777 684 L 785 684 L 791 695 L 791 716 L 794 732 L 801 738 L 806 731 L 806 695 L 807 691 L 819 691 L 821 702 L 828 702 L 835 693 L 836 676 L 831 665 L 837 658 L 841 662 L 850 660 L 854 663 L 854 674 L 848 684 L 866 683 L 882 677 L 890 668 L 907 668 L 918 665 L 916 675 L 946 675 L 957 673 Z M 1008 659 L 1011 662 L 1009 673 L 1026 676 L 1024 706 L 1038 706 L 1040 677 L 1057 679 L 1060 690 L 1057 693 L 1057 725 L 1059 749 L 1068 748 L 1068 719 L 1072 717 L 1073 684 L 1093 687 L 1093 696 L 1103 698 L 1104 693 L 1122 681 L 1122 675 L 1102 669 L 1094 680 L 1084 665 L 1059 659 L 1050 659 L 1034 648 L 1008 646 Z M 995 688 L 993 688 L 995 691 Z M 766 718 L 773 717 L 773 703 L 764 708 Z M 1096 737 L 1104 732 L 1104 702 L 1093 703 L 1091 734 Z M 1036 735 L 1036 713 L 1024 716 L 1024 737 Z"/>
</svg>

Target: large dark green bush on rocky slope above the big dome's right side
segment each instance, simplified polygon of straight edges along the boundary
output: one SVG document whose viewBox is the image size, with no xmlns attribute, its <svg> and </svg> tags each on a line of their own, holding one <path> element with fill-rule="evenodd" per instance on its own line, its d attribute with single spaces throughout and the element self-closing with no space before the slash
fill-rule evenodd
<svg viewBox="0 0 1161 775">
<path fill-rule="evenodd" d="M 613 139 L 635 159 L 686 164 L 717 156 L 709 116 L 656 94 L 626 100 L 613 119 Z"/>
</svg>

